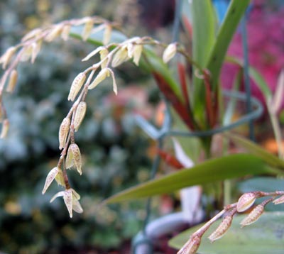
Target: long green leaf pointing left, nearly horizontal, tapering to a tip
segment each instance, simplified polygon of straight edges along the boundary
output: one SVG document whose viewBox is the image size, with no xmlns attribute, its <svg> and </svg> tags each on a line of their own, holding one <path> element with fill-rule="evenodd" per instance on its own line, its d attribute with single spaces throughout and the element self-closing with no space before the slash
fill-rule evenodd
<svg viewBox="0 0 284 254">
<path fill-rule="evenodd" d="M 106 203 L 114 203 L 157 194 L 174 192 L 177 189 L 197 184 L 207 184 L 245 175 L 275 174 L 275 170 L 266 166 L 260 158 L 253 155 L 236 154 L 223 158 L 207 160 L 190 169 L 151 180 L 136 187 L 126 189 L 109 199 Z"/>
</svg>

